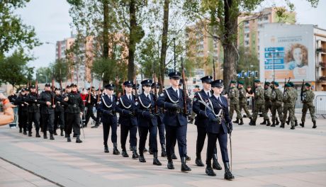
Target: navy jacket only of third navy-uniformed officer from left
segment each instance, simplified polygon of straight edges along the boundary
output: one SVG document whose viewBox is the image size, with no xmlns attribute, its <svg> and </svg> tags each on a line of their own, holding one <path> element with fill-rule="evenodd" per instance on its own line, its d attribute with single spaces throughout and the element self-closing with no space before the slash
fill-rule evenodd
<svg viewBox="0 0 326 187">
<path fill-rule="evenodd" d="M 157 115 L 155 115 L 155 102 L 154 95 L 150 94 L 150 99 L 148 99 L 145 94 L 140 94 L 138 96 L 138 126 L 140 127 L 150 127 L 150 125 L 157 126 Z M 150 118 L 150 114 L 154 115 L 154 118 Z"/>
</svg>

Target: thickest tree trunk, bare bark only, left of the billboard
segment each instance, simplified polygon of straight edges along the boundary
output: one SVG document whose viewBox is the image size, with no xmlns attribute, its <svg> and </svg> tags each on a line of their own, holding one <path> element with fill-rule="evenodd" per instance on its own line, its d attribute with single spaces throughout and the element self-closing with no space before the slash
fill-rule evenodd
<svg viewBox="0 0 326 187">
<path fill-rule="evenodd" d="M 237 55 L 237 16 L 239 13 L 237 0 L 224 0 L 224 34 L 222 37 L 224 64 L 223 80 L 225 89 L 235 78 L 235 64 L 238 60 Z"/>
</svg>

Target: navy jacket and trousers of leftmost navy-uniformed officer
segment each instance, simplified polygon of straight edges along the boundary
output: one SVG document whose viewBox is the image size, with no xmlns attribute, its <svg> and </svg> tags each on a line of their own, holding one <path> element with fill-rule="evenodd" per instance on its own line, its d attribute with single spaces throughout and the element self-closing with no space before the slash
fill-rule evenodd
<svg viewBox="0 0 326 187">
<path fill-rule="evenodd" d="M 111 127 L 111 142 L 114 144 L 117 142 L 117 123 L 118 118 L 116 115 L 116 101 L 117 98 L 115 95 L 111 96 L 111 99 L 108 95 L 101 96 L 101 101 L 99 103 L 99 112 L 102 114 L 101 122 L 103 123 L 103 145 L 108 146 L 108 134 L 110 133 Z"/>
</svg>

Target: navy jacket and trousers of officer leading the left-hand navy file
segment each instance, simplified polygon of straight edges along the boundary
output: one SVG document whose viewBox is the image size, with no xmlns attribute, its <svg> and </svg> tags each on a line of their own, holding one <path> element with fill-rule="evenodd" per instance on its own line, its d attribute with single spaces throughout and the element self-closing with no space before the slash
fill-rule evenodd
<svg viewBox="0 0 326 187">
<path fill-rule="evenodd" d="M 157 106 L 167 110 L 164 113 L 163 123 L 166 130 L 167 141 L 167 157 L 171 160 L 172 152 L 174 149 L 174 142 L 178 140 L 180 157 L 186 157 L 186 131 L 187 131 L 187 118 L 184 114 L 184 96 L 181 89 L 176 91 L 172 87 L 166 89 L 159 95 L 157 99 Z M 178 108 L 174 108 L 175 104 L 178 104 Z M 190 108 L 190 103 L 187 103 Z M 190 111 L 190 110 L 189 110 Z"/>
</svg>

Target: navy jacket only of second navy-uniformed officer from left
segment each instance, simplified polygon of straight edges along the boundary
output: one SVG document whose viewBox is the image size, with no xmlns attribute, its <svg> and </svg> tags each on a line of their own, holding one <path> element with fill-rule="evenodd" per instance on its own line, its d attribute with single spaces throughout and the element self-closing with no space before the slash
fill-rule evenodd
<svg viewBox="0 0 326 187">
<path fill-rule="evenodd" d="M 137 125 L 137 102 L 135 96 L 132 95 L 132 101 L 129 100 L 127 94 L 124 94 L 118 99 L 116 111 L 120 113 L 119 123 L 126 126 Z M 131 112 L 133 115 L 129 115 Z"/>
</svg>

